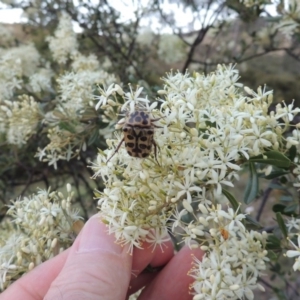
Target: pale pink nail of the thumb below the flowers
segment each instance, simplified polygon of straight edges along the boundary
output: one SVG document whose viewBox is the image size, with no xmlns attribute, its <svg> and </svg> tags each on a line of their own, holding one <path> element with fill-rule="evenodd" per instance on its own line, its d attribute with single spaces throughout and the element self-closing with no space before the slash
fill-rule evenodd
<svg viewBox="0 0 300 300">
<path fill-rule="evenodd" d="M 84 225 L 78 246 L 78 252 L 91 252 L 102 250 L 115 254 L 121 254 L 124 247 L 115 243 L 115 236 L 107 233 L 106 225 L 99 215 L 93 216 Z"/>
</svg>

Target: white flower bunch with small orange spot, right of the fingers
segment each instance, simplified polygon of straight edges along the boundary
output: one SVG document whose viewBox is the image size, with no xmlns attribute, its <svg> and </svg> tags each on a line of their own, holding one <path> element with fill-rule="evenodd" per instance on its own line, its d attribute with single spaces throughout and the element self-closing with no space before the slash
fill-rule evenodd
<svg viewBox="0 0 300 300">
<path fill-rule="evenodd" d="M 209 209 L 201 205 L 200 210 L 202 226 L 190 224 L 189 231 L 203 243 L 201 249 L 207 254 L 191 271 L 193 300 L 254 299 L 252 290 L 264 290 L 257 279 L 269 261 L 264 250 L 267 233 L 246 230 L 245 215 L 231 208 L 225 212 L 220 205 Z"/>
</svg>

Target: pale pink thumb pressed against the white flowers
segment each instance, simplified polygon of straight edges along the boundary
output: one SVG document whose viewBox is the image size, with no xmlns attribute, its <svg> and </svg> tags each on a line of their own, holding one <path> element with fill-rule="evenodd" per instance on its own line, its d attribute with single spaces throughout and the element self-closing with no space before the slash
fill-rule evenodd
<svg viewBox="0 0 300 300">
<path fill-rule="evenodd" d="M 99 215 L 85 224 L 45 300 L 125 299 L 132 256 L 106 231 Z"/>
</svg>

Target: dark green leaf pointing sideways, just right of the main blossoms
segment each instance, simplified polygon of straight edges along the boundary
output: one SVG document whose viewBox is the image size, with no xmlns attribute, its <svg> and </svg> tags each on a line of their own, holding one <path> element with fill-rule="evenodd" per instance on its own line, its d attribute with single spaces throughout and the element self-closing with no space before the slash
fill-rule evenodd
<svg viewBox="0 0 300 300">
<path fill-rule="evenodd" d="M 264 154 L 258 156 L 251 157 L 249 161 L 268 164 L 279 168 L 289 168 L 291 165 L 291 161 L 288 157 L 274 150 L 265 152 Z"/>
</svg>

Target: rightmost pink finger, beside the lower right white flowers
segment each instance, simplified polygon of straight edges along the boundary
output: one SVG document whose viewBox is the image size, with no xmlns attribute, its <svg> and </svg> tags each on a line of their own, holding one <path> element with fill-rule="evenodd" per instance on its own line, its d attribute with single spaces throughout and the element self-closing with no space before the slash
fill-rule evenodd
<svg viewBox="0 0 300 300">
<path fill-rule="evenodd" d="M 200 249 L 191 250 L 183 247 L 170 262 L 160 271 L 154 280 L 143 290 L 139 300 L 190 300 L 189 285 L 194 279 L 188 275 L 194 257 L 201 259 Z"/>
</svg>

